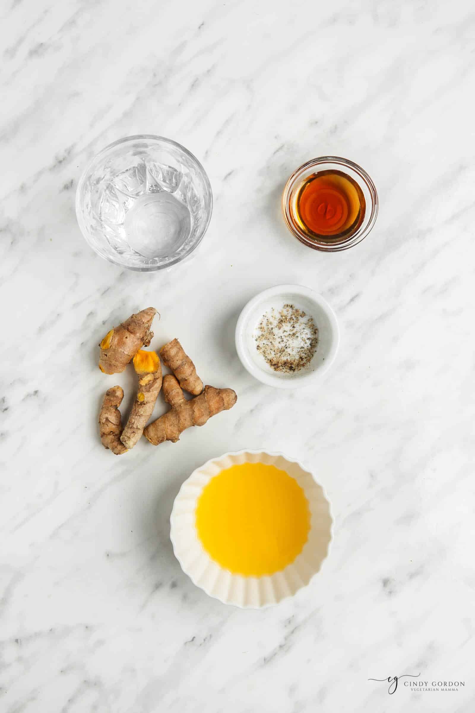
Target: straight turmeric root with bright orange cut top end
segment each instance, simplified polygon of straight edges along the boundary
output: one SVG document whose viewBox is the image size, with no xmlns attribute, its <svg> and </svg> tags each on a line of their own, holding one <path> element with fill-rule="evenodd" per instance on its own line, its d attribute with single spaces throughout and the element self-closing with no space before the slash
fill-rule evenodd
<svg viewBox="0 0 475 713">
<path fill-rule="evenodd" d="M 120 440 L 129 450 L 142 436 L 162 388 L 162 366 L 157 352 L 145 352 L 144 349 L 139 349 L 134 356 L 134 369 L 139 375 L 137 399 L 132 406 L 127 426 L 120 436 Z"/>
</svg>

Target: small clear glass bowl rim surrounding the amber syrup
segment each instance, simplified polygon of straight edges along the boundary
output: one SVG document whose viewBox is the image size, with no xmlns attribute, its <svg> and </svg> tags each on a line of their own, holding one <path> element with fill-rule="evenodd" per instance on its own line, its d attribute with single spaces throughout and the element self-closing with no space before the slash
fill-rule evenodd
<svg viewBox="0 0 475 713">
<path fill-rule="evenodd" d="M 296 201 L 301 185 L 313 173 L 325 170 L 338 170 L 346 173 L 353 178 L 357 185 L 362 190 L 365 197 L 365 217 L 355 232 L 350 232 L 350 235 L 343 235 L 341 240 L 331 241 L 323 240 L 319 237 L 309 237 L 306 232 L 303 232 L 298 221 L 296 220 Z M 360 166 L 347 158 L 339 156 L 320 156 L 320 158 L 312 158 L 301 165 L 293 172 L 286 183 L 282 194 L 282 212 L 283 218 L 286 221 L 288 230 L 303 242 L 303 245 L 313 248 L 313 250 L 322 250 L 323 252 L 339 252 L 340 250 L 348 250 L 348 247 L 357 245 L 358 242 L 364 240 L 367 234 L 375 225 L 377 218 L 377 210 L 379 207 L 375 184 L 370 176 Z"/>
</svg>

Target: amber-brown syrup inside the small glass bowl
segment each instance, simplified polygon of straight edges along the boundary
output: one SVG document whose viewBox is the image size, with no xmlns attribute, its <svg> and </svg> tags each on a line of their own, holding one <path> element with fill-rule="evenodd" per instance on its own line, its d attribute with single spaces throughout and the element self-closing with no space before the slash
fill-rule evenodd
<svg viewBox="0 0 475 713">
<path fill-rule="evenodd" d="M 359 185 L 339 170 L 318 171 L 298 189 L 294 220 L 318 240 L 338 242 L 352 235 L 365 217 L 365 196 Z"/>
</svg>

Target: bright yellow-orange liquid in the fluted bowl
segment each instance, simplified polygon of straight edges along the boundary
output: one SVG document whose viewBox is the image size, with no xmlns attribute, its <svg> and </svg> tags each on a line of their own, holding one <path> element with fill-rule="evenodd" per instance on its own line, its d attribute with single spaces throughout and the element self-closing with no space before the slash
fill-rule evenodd
<svg viewBox="0 0 475 713">
<path fill-rule="evenodd" d="M 231 466 L 198 498 L 196 528 L 209 556 L 233 574 L 271 575 L 301 553 L 310 510 L 301 486 L 263 463 Z"/>
</svg>

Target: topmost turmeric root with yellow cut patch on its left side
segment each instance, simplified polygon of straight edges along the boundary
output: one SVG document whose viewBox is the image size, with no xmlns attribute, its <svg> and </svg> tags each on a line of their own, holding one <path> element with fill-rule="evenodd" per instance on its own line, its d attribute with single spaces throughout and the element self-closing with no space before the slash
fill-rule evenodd
<svg viewBox="0 0 475 713">
<path fill-rule="evenodd" d="M 142 347 L 148 347 L 153 337 L 152 320 L 157 314 L 154 307 L 142 309 L 114 327 L 100 342 L 99 369 L 104 374 L 120 374 Z"/>
</svg>

